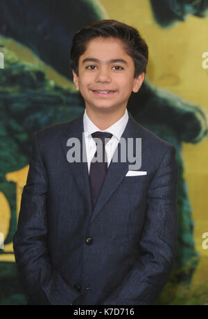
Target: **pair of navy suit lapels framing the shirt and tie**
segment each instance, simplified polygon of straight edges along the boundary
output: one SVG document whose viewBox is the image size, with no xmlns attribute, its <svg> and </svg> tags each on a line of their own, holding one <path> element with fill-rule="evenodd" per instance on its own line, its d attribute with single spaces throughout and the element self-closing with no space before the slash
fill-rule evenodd
<svg viewBox="0 0 208 319">
<path fill-rule="evenodd" d="M 132 164 L 128 162 L 128 156 L 126 153 L 126 162 L 121 162 L 121 152 L 120 150 L 120 144 L 118 144 L 116 151 L 114 154 L 118 154 L 118 161 L 113 162 L 111 161 L 110 166 L 107 170 L 107 174 L 105 176 L 105 180 L 103 182 L 103 186 L 101 188 L 101 192 L 99 193 L 98 200 L 96 202 L 96 205 L 94 207 L 94 210 L 92 211 L 92 202 L 91 202 L 91 194 L 90 194 L 90 188 L 89 188 L 89 173 L 87 168 L 87 161 L 83 162 L 83 158 L 86 157 L 86 149 L 85 149 L 85 140 L 83 140 L 83 114 L 81 114 L 78 119 L 75 119 L 69 123 L 69 126 L 67 127 L 67 130 L 64 131 L 62 134 L 60 141 L 62 144 L 62 149 L 64 151 L 64 157 L 67 161 L 67 152 L 70 149 L 69 146 L 67 146 L 67 141 L 70 138 L 77 138 L 80 141 L 81 146 L 81 162 L 73 162 L 69 163 L 67 162 L 68 168 L 71 171 L 71 174 L 74 177 L 74 180 L 76 182 L 76 185 L 78 187 L 78 191 L 80 191 L 80 194 L 83 197 L 83 200 L 85 201 L 87 205 L 87 209 L 91 214 L 91 218 L 89 223 L 92 223 L 94 221 L 94 218 L 98 216 L 98 214 L 103 209 L 105 203 L 107 200 L 109 200 L 110 196 L 116 191 L 117 187 L 119 187 L 119 184 L 125 177 L 126 173 L 128 172 L 128 165 Z M 122 137 L 124 139 L 128 138 L 135 138 L 141 137 L 141 126 L 133 119 L 130 112 L 128 112 L 129 119 L 128 123 L 125 127 L 125 130 L 123 131 Z M 134 144 L 134 150 L 135 150 L 135 144 Z M 127 151 L 127 150 L 126 150 Z M 135 155 L 134 155 L 135 156 Z"/>
</svg>

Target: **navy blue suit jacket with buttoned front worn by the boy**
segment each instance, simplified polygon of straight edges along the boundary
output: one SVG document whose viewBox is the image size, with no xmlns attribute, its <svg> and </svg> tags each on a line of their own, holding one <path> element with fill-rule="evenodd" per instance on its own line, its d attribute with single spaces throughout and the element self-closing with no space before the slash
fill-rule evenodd
<svg viewBox="0 0 208 319">
<path fill-rule="evenodd" d="M 125 176 L 132 163 L 111 162 L 93 210 L 87 162 L 67 161 L 67 140 L 83 139 L 83 114 L 34 133 L 14 236 L 31 304 L 154 304 L 168 281 L 177 246 L 175 147 L 128 114 L 122 137 L 141 138 L 147 175 Z"/>
</svg>

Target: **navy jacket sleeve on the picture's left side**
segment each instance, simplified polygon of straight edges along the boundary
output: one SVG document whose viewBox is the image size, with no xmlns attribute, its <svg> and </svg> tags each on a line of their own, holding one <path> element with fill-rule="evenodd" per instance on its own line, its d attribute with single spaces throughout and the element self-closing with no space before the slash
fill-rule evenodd
<svg viewBox="0 0 208 319">
<path fill-rule="evenodd" d="M 35 132 L 17 232 L 13 238 L 15 259 L 34 304 L 68 305 L 80 293 L 51 266 L 47 248 L 47 189 L 47 173 Z"/>
</svg>

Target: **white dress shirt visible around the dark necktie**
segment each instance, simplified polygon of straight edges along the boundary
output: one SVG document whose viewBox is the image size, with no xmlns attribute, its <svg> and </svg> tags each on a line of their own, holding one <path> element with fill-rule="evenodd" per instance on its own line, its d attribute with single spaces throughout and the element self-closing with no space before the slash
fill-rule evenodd
<svg viewBox="0 0 208 319">
<path fill-rule="evenodd" d="M 85 135 L 85 146 L 87 152 L 87 165 L 88 165 L 88 173 L 90 169 L 90 164 L 96 153 L 96 142 L 92 137 L 92 133 L 100 131 L 100 132 L 109 132 L 112 134 L 112 138 L 105 145 L 105 150 L 107 153 L 107 167 L 110 165 L 112 157 L 114 155 L 114 151 L 116 150 L 117 145 L 119 144 L 119 140 L 125 130 L 125 126 L 128 122 L 128 111 L 125 109 L 125 114 L 119 121 L 116 121 L 112 126 L 106 128 L 106 130 L 100 130 L 92 121 L 89 119 L 86 109 L 83 115 L 83 124 L 84 124 L 84 135 Z"/>
</svg>

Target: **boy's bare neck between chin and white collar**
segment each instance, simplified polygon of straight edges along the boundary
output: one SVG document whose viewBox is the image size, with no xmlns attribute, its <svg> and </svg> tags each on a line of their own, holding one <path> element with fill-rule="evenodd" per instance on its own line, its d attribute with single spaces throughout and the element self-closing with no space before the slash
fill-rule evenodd
<svg viewBox="0 0 208 319">
<path fill-rule="evenodd" d="M 119 111 L 116 110 L 116 112 L 107 111 L 108 110 L 105 110 L 105 112 L 95 112 L 94 110 L 91 110 L 88 107 L 86 107 L 87 116 L 100 130 L 106 130 L 114 123 L 119 121 L 119 119 L 121 119 L 121 117 L 123 117 L 123 115 L 125 114 L 125 109 Z"/>
</svg>

